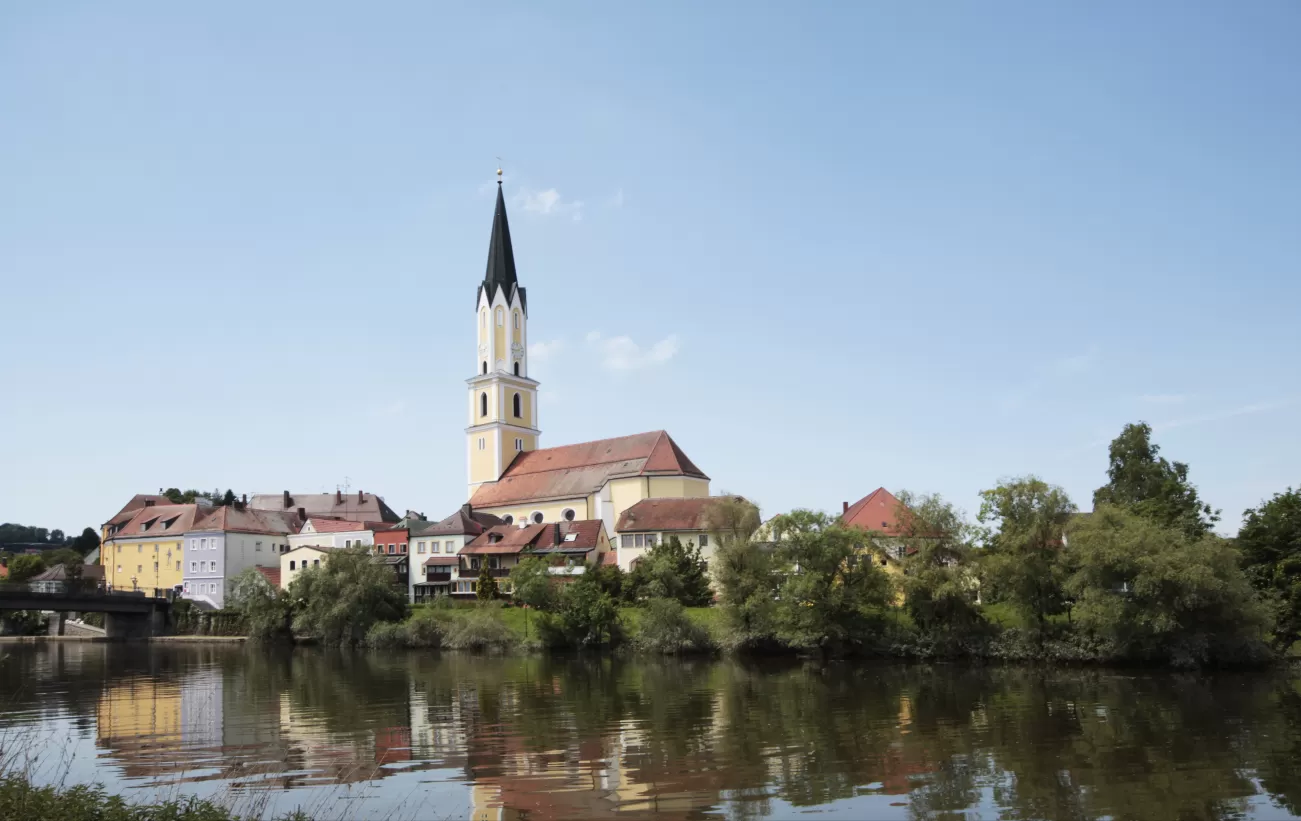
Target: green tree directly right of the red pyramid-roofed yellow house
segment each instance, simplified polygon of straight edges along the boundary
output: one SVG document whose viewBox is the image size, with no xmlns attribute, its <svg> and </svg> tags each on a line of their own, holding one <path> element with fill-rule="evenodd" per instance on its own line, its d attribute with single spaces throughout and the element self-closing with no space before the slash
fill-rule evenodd
<svg viewBox="0 0 1301 821">
<path fill-rule="evenodd" d="M 899 493 L 899 539 L 904 566 L 904 609 L 941 651 L 986 628 L 976 606 L 980 587 L 972 562 L 974 528 L 938 494 Z"/>
</svg>

